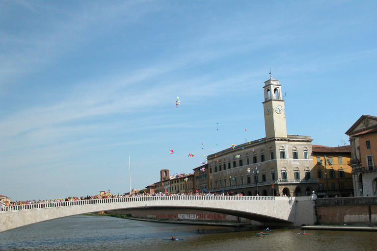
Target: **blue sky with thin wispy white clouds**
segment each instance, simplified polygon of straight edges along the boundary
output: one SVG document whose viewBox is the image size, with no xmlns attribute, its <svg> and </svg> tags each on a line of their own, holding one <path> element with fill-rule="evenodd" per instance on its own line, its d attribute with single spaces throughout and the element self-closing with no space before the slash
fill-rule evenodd
<svg viewBox="0 0 377 251">
<path fill-rule="evenodd" d="M 377 115 L 376 24 L 372 0 L 0 0 L 0 194 L 125 193 L 129 155 L 132 188 L 192 173 L 265 137 L 270 68 L 289 134 L 348 144 Z"/>
</svg>

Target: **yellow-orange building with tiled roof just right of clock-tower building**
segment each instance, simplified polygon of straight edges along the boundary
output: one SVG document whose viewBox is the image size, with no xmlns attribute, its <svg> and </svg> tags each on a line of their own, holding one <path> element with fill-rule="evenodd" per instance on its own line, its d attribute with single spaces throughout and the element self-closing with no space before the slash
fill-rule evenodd
<svg viewBox="0 0 377 251">
<path fill-rule="evenodd" d="M 349 197 L 353 194 L 350 146 L 312 145 L 314 177 L 318 179 L 317 196 Z"/>
</svg>

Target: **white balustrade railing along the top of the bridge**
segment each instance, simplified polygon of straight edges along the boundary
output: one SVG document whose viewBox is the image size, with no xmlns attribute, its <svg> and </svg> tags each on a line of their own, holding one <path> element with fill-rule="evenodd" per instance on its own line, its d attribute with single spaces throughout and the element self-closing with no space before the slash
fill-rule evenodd
<svg viewBox="0 0 377 251">
<path fill-rule="evenodd" d="M 275 201 L 273 196 L 141 196 L 125 198 L 107 198 L 79 201 L 42 202 L 23 205 L 10 205 L 0 207 L 0 212 L 30 210 L 52 207 L 81 206 L 94 204 L 140 202 L 140 201 Z"/>
</svg>

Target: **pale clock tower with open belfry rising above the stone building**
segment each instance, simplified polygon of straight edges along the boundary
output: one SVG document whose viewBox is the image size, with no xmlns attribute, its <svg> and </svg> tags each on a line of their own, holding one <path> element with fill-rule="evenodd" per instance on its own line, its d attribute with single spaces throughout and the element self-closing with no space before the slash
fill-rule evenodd
<svg viewBox="0 0 377 251">
<path fill-rule="evenodd" d="M 287 124 L 285 121 L 285 106 L 281 95 L 279 80 L 272 75 L 263 87 L 265 101 L 263 109 L 265 113 L 266 139 L 287 138 Z"/>
</svg>

